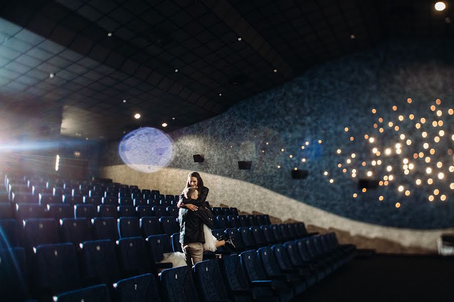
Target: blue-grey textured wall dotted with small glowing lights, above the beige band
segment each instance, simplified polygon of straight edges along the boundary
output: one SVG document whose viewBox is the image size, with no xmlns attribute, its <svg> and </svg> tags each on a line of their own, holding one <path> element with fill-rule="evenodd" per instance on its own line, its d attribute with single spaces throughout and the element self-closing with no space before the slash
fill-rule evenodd
<svg viewBox="0 0 454 302">
<path fill-rule="evenodd" d="M 359 221 L 416 229 L 454 226 L 454 197 L 449 188 L 454 173 L 448 170 L 453 165 L 448 149 L 453 149 L 454 131 L 453 116 L 447 114 L 454 107 L 452 46 L 444 41 L 392 42 L 312 68 L 217 117 L 170 133 L 175 156 L 169 167 L 247 181 Z M 412 98 L 411 104 L 407 98 Z M 436 105 L 437 110 L 442 110 L 441 117 L 429 109 L 436 99 L 442 102 Z M 393 105 L 398 106 L 397 111 L 392 110 Z M 414 114 L 414 120 L 409 119 L 410 114 Z M 399 121 L 399 115 L 405 119 Z M 378 122 L 379 117 L 383 123 Z M 417 129 L 415 124 L 421 117 L 427 121 Z M 433 127 L 434 120 L 443 120 L 443 126 Z M 389 121 L 393 122 L 392 127 L 388 126 Z M 378 124 L 376 129 L 374 123 Z M 399 131 L 394 130 L 395 125 L 399 125 Z M 383 133 L 378 132 L 380 127 L 384 128 Z M 434 136 L 440 129 L 445 135 L 435 143 Z M 426 138 L 421 136 L 422 131 L 428 133 Z M 406 135 L 404 140 L 399 137 L 402 133 Z M 365 134 L 376 141 L 368 142 Z M 409 138 L 411 145 L 406 144 Z M 318 143 L 319 139 L 322 143 Z M 304 144 L 306 141 L 309 145 Z M 398 142 L 402 144 L 401 155 L 395 154 L 394 145 Z M 430 144 L 428 149 L 423 148 L 424 142 Z M 117 146 L 118 143 L 106 145 L 101 166 L 122 164 Z M 380 157 L 371 153 L 374 146 L 381 151 Z M 383 155 L 385 147 L 391 148 L 391 156 Z M 285 151 L 281 152 L 281 148 Z M 338 148 L 341 155 L 336 153 Z M 427 164 L 424 158 L 430 148 L 435 149 L 435 154 L 430 155 L 431 162 Z M 413 154 L 419 152 L 424 152 L 424 158 L 413 159 Z M 356 157 L 347 164 L 352 153 Z M 205 155 L 205 162 L 194 163 L 194 154 Z M 404 158 L 415 165 L 409 175 L 404 174 Z M 372 167 L 371 161 L 378 159 L 382 164 Z M 237 162 L 245 160 L 253 162 L 251 170 L 238 169 Z M 363 161 L 367 162 L 366 167 L 362 167 Z M 436 167 L 437 162 L 442 162 L 442 168 Z M 337 168 L 338 163 L 343 167 Z M 392 166 L 390 173 L 385 170 L 388 165 Z M 293 180 L 291 170 L 295 167 L 308 170 L 309 177 Z M 432 168 L 431 175 L 426 174 L 426 167 Z M 343 173 L 343 168 L 348 169 L 347 173 Z M 352 169 L 357 170 L 356 178 L 351 176 Z M 324 171 L 329 175 L 324 176 Z M 381 179 L 392 174 L 394 179 L 386 187 L 362 193 L 357 181 L 367 171 Z M 440 171 L 445 175 L 443 180 L 437 178 Z M 426 182 L 429 177 L 434 180 L 432 185 Z M 423 185 L 415 185 L 416 178 L 421 178 Z M 334 182 L 329 183 L 329 179 Z M 410 196 L 400 193 L 399 185 L 410 190 Z M 430 202 L 428 196 L 433 195 L 434 189 L 440 193 Z M 353 198 L 354 193 L 357 198 Z M 447 200 L 440 200 L 442 194 Z M 378 199 L 380 195 L 384 200 Z M 231 198 L 241 199 L 241 195 Z M 396 202 L 400 202 L 400 208 L 395 207 Z"/>
</svg>

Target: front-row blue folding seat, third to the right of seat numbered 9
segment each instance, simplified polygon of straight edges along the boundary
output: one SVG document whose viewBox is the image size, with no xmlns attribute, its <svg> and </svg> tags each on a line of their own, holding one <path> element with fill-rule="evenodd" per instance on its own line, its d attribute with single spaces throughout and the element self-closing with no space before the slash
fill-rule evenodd
<svg viewBox="0 0 454 302">
<path fill-rule="evenodd" d="M 263 265 L 257 255 L 257 251 L 246 251 L 240 254 L 241 266 L 244 269 L 246 278 L 252 288 L 257 286 L 266 287 L 277 296 L 279 301 L 290 301 L 293 297 L 293 289 L 285 280 L 269 278 L 263 270 Z M 261 299 L 260 299 L 261 300 Z"/>
</svg>

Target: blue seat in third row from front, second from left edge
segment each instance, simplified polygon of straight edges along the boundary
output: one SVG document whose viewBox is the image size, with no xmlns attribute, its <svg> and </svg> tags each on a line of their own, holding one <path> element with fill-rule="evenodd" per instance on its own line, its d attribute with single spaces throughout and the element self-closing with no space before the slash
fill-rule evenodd
<svg viewBox="0 0 454 302">
<path fill-rule="evenodd" d="M 59 242 L 58 224 L 52 218 L 32 218 L 24 222 L 24 247 L 29 253 L 31 248 L 40 244 Z"/>
</svg>

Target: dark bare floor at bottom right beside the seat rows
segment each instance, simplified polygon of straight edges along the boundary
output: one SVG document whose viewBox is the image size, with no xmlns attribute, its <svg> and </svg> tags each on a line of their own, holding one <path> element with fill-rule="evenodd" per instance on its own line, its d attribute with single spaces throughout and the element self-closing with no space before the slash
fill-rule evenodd
<svg viewBox="0 0 454 302">
<path fill-rule="evenodd" d="M 454 257 L 373 255 L 353 260 L 294 301 L 454 301 Z"/>
</svg>

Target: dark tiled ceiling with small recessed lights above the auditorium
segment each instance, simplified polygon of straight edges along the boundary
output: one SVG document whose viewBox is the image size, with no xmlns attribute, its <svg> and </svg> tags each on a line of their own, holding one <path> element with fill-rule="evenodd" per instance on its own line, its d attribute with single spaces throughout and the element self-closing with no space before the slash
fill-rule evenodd
<svg viewBox="0 0 454 302">
<path fill-rule="evenodd" d="M 392 38 L 452 38 L 452 10 L 437 12 L 433 4 L 6 1 L 0 102 L 32 99 L 59 107 L 68 136 L 115 139 L 139 126 L 172 131 L 312 65 Z"/>
</svg>

